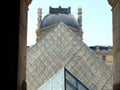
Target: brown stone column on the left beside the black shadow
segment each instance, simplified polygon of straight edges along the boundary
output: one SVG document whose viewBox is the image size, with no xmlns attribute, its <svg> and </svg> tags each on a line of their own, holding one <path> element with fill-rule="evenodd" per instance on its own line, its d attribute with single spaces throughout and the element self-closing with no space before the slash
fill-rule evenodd
<svg viewBox="0 0 120 90">
<path fill-rule="evenodd" d="M 20 0 L 17 90 L 26 89 L 27 16 L 31 0 Z"/>
</svg>

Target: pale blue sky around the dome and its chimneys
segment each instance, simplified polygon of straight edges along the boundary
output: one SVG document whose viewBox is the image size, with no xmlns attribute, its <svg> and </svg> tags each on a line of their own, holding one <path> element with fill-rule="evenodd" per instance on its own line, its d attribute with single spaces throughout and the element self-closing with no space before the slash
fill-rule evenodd
<svg viewBox="0 0 120 90">
<path fill-rule="evenodd" d="M 82 8 L 83 41 L 88 46 L 113 46 L 112 11 L 107 0 L 32 0 L 28 6 L 27 46 L 36 43 L 37 9 L 42 8 L 42 18 L 49 7 L 71 7 L 71 14 L 78 18 Z"/>
</svg>

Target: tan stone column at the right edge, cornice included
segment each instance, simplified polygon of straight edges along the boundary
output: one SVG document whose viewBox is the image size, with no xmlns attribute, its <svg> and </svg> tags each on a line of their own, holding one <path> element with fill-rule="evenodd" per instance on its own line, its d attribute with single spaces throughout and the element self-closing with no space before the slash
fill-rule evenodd
<svg viewBox="0 0 120 90">
<path fill-rule="evenodd" d="M 113 90 L 120 90 L 120 0 L 108 0 L 112 6 L 113 20 Z"/>
</svg>

